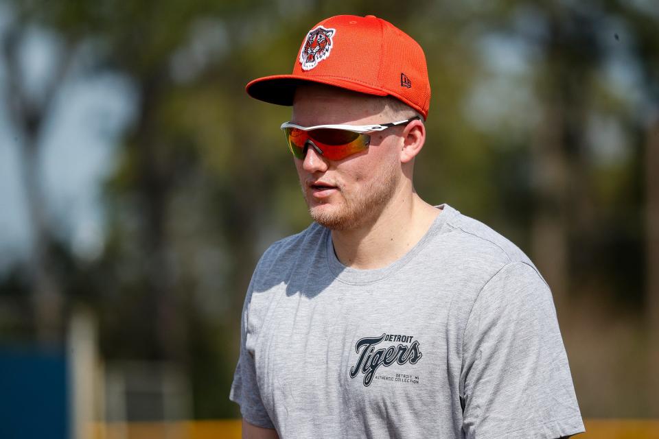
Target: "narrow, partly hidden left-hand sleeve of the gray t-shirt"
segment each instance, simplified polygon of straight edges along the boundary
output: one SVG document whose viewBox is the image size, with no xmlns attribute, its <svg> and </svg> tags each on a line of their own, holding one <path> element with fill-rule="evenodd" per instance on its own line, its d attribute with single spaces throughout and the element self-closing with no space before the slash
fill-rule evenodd
<svg viewBox="0 0 659 439">
<path fill-rule="evenodd" d="M 244 420 L 252 425 L 263 428 L 275 428 L 273 421 L 270 420 L 268 412 L 261 400 L 261 392 L 257 381 L 256 368 L 252 354 L 246 348 L 248 334 L 249 308 L 253 291 L 253 283 L 258 271 L 252 277 L 248 287 L 245 302 L 242 308 L 242 318 L 240 322 L 240 356 L 238 365 L 235 367 L 233 374 L 233 383 L 231 384 L 231 393 L 229 399 L 240 405 L 240 413 Z"/>
</svg>

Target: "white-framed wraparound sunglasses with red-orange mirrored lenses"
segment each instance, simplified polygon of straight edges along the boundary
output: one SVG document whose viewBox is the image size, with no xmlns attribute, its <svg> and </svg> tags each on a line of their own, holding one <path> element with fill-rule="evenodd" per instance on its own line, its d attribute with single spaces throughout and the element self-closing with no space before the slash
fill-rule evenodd
<svg viewBox="0 0 659 439">
<path fill-rule="evenodd" d="M 284 130 L 286 135 L 288 149 L 296 158 L 304 160 L 307 146 L 310 146 L 328 160 L 341 160 L 367 150 L 371 143 L 371 136 L 368 133 L 384 131 L 415 119 L 420 119 L 420 117 L 381 125 L 316 125 L 308 127 L 284 122 L 281 124 L 281 130 Z"/>
</svg>

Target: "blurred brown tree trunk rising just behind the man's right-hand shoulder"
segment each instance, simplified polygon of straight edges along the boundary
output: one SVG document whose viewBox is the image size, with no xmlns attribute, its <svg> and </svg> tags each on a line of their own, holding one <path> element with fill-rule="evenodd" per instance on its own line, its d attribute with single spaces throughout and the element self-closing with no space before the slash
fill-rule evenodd
<svg viewBox="0 0 659 439">
<path fill-rule="evenodd" d="M 583 239 L 595 214 L 586 132 L 593 73 L 602 58 L 594 34 L 599 11 L 581 5 L 543 12 L 546 32 L 538 88 L 543 121 L 533 145 L 535 214 L 533 258 L 552 286 L 557 307 L 570 290 L 570 250 L 586 251 Z M 570 241 L 579 243 L 569 248 Z"/>
</svg>

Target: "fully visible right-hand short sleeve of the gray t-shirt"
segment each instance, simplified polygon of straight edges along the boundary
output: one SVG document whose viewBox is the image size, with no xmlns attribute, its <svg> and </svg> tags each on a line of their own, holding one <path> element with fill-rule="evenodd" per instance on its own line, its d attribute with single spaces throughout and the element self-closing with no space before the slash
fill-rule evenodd
<svg viewBox="0 0 659 439">
<path fill-rule="evenodd" d="M 483 287 L 463 337 L 467 439 L 560 438 L 584 431 L 551 292 L 527 263 Z"/>
</svg>

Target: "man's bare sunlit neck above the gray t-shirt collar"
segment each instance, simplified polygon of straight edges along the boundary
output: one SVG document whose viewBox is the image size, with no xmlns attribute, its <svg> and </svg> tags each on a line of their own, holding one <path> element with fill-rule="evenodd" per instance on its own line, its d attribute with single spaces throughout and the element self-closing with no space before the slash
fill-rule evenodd
<svg viewBox="0 0 659 439">
<path fill-rule="evenodd" d="M 411 190 L 397 193 L 371 222 L 351 230 L 332 230 L 336 257 L 351 268 L 385 267 L 411 250 L 440 212 Z"/>
</svg>

